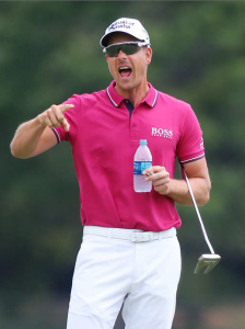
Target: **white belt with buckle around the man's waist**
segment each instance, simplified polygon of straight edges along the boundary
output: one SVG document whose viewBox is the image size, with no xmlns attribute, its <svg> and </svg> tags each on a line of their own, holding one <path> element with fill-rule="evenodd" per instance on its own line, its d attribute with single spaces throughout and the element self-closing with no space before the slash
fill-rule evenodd
<svg viewBox="0 0 245 329">
<path fill-rule="evenodd" d="M 101 237 L 129 240 L 131 242 L 147 242 L 161 240 L 176 236 L 176 228 L 172 227 L 162 231 L 145 231 L 140 229 L 112 228 L 103 226 L 84 226 L 83 235 L 95 235 Z"/>
</svg>

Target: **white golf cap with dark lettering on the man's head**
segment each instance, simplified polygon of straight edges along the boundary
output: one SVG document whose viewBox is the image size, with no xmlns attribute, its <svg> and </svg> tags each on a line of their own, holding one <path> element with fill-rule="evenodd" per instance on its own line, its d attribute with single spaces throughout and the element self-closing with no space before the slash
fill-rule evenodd
<svg viewBox="0 0 245 329">
<path fill-rule="evenodd" d="M 150 37 L 147 30 L 140 23 L 140 21 L 135 19 L 118 19 L 117 21 L 113 22 L 105 31 L 105 34 L 100 41 L 100 45 L 102 47 L 107 46 L 108 37 L 112 33 L 115 32 L 124 32 L 130 34 L 138 38 L 141 42 L 145 42 L 150 45 Z"/>
</svg>

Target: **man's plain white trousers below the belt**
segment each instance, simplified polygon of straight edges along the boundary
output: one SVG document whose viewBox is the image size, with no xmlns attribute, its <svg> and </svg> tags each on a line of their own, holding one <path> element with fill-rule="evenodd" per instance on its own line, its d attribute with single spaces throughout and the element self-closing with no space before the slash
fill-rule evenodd
<svg viewBox="0 0 245 329">
<path fill-rule="evenodd" d="M 176 236 L 136 243 L 84 235 L 67 329 L 113 329 L 122 304 L 126 329 L 171 329 L 180 263 Z"/>
</svg>

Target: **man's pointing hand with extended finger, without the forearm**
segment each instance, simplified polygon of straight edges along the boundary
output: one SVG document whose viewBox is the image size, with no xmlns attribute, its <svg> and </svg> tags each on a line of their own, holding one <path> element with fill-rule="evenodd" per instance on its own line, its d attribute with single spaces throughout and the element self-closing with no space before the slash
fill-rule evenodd
<svg viewBox="0 0 245 329">
<path fill-rule="evenodd" d="M 70 125 L 63 116 L 65 111 L 74 107 L 72 104 L 51 105 L 49 109 L 40 113 L 37 118 L 42 126 L 55 128 L 63 126 L 69 132 Z"/>
</svg>

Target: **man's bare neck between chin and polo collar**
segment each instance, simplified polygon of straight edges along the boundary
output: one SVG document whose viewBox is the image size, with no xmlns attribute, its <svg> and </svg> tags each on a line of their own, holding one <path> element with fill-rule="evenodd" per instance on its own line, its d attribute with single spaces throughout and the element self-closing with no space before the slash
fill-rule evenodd
<svg viewBox="0 0 245 329">
<path fill-rule="evenodd" d="M 139 84 L 132 89 L 122 89 L 119 84 L 116 83 L 114 89 L 120 97 L 129 99 L 136 107 L 145 98 L 150 88 L 148 86 L 148 82 L 144 81 L 142 84 Z"/>
</svg>

